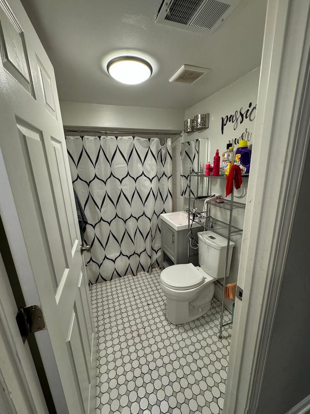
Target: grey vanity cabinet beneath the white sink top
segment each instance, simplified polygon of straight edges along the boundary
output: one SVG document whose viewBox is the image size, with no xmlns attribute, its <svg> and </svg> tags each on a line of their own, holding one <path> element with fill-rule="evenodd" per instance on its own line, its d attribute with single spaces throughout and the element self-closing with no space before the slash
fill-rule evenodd
<svg viewBox="0 0 310 414">
<path fill-rule="evenodd" d="M 169 224 L 161 220 L 161 268 L 164 269 L 170 265 L 179 265 L 187 262 L 187 228 L 184 230 L 175 230 Z M 203 227 L 192 229 L 194 238 L 198 240 L 197 232 L 201 232 Z M 198 249 L 190 248 L 190 262 L 198 265 Z"/>
</svg>

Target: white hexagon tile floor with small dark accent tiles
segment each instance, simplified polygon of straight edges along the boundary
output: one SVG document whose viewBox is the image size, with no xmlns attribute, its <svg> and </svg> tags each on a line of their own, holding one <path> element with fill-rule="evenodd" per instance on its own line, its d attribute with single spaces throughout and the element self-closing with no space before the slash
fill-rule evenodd
<svg viewBox="0 0 310 414">
<path fill-rule="evenodd" d="M 220 304 L 175 326 L 165 318 L 159 269 L 93 285 L 98 334 L 96 414 L 219 414 L 231 329 L 217 337 Z M 225 321 L 230 320 L 225 311 Z"/>
</svg>

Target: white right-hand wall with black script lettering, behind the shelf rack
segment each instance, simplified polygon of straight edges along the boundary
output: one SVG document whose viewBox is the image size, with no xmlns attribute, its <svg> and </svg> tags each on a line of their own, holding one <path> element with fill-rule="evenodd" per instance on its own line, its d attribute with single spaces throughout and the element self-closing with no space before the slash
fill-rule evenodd
<svg viewBox="0 0 310 414">
<path fill-rule="evenodd" d="M 190 139 L 197 139 L 197 138 L 208 138 L 209 139 L 209 155 L 204 154 L 201 160 L 201 168 L 205 165 L 207 161 L 211 161 L 213 164 L 213 157 L 215 155 L 216 149 L 219 149 L 219 154 L 221 156 L 222 161 L 222 152 L 226 150 L 226 144 L 229 140 L 233 140 L 235 138 L 240 137 L 240 135 L 245 131 L 247 128 L 249 132 L 253 132 L 254 130 L 254 123 L 255 120 L 250 121 L 249 119 L 245 119 L 242 123 L 238 122 L 236 128 L 234 129 L 234 125 L 231 122 L 228 122 L 227 125 L 224 127 L 223 134 L 221 133 L 221 123 L 222 117 L 226 115 L 230 116 L 231 114 L 234 115 L 235 111 L 238 111 L 240 108 L 243 108 L 243 111 L 246 111 L 248 108 L 249 102 L 252 102 L 252 107 L 256 105 L 257 93 L 258 93 L 258 83 L 259 83 L 259 68 L 249 72 L 247 75 L 243 76 L 242 78 L 238 79 L 237 81 L 231 83 L 230 85 L 226 86 L 225 88 L 221 89 L 216 94 L 212 95 L 211 97 L 204 99 L 203 101 L 197 103 L 196 105 L 188 108 L 185 111 L 185 119 L 193 118 L 197 114 L 205 114 L 210 113 L 210 126 L 208 129 L 203 130 L 201 132 L 192 132 L 192 133 L 184 133 L 179 139 L 176 139 L 174 142 L 175 151 L 177 157 L 175 161 L 175 168 L 173 172 L 180 175 L 180 149 L 179 149 L 179 142 L 187 141 Z M 252 116 L 254 116 L 255 111 L 252 112 Z M 240 120 L 240 118 L 239 118 Z M 253 142 L 253 135 L 251 138 L 251 142 Z M 237 146 L 235 146 L 235 149 Z M 177 169 L 178 168 L 178 169 Z M 213 182 L 215 182 L 213 180 Z M 243 179 L 245 187 L 248 184 L 248 178 Z M 215 184 L 212 184 L 212 193 L 219 193 L 225 196 L 225 184 L 226 180 L 218 180 Z M 175 210 L 184 210 L 188 207 L 188 200 L 180 197 L 180 186 L 179 180 L 176 178 L 173 181 L 173 207 Z M 178 186 L 178 187 L 177 187 Z M 241 194 L 241 190 L 235 191 L 236 195 Z M 229 198 L 229 197 L 228 197 Z M 241 202 L 246 202 L 246 199 L 240 199 Z M 197 203 L 197 205 L 199 205 Z M 196 205 L 195 205 L 196 207 Z M 213 208 L 212 215 L 215 217 L 222 219 L 223 221 L 228 221 L 229 216 L 228 212 L 223 211 L 223 209 L 216 209 Z M 243 228 L 244 224 L 244 210 L 234 210 L 233 212 L 233 225 Z M 242 236 L 235 236 L 232 238 L 235 242 L 234 252 L 233 252 L 233 260 L 231 266 L 231 273 L 228 282 L 233 283 L 237 281 L 237 274 L 238 274 L 238 266 L 240 260 L 240 247 L 241 247 L 241 240 Z M 216 291 L 217 296 L 220 295 L 220 291 Z M 227 302 L 228 306 L 231 306 L 231 301 Z"/>
</svg>

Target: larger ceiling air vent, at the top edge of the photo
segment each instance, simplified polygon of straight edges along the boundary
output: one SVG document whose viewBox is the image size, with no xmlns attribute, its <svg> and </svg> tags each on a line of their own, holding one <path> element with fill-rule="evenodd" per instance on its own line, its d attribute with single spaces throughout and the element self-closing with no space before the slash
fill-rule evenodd
<svg viewBox="0 0 310 414">
<path fill-rule="evenodd" d="M 164 0 L 156 23 L 191 32 L 213 33 L 241 0 Z"/>
</svg>

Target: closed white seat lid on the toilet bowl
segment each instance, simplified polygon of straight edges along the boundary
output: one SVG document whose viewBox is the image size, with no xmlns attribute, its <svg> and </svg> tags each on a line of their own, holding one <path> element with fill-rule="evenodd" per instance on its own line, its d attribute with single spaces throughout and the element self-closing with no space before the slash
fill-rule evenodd
<svg viewBox="0 0 310 414">
<path fill-rule="evenodd" d="M 161 280 L 173 289 L 192 289 L 204 281 L 202 273 L 192 264 L 166 267 L 160 274 Z"/>
</svg>

